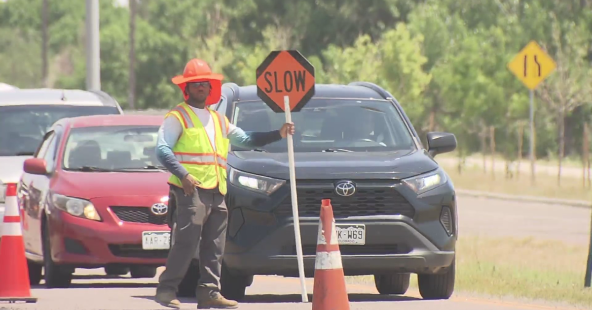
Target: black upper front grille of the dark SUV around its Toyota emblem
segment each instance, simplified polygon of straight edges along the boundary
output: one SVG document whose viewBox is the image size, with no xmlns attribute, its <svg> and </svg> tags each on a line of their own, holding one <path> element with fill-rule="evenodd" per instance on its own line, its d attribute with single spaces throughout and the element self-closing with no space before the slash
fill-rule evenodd
<svg viewBox="0 0 592 310">
<path fill-rule="evenodd" d="M 301 181 L 298 181 L 300 184 Z M 298 210 L 300 216 L 317 217 L 320 213 L 321 200 L 330 199 L 333 216 L 336 218 L 350 216 L 403 215 L 413 218 L 415 209 L 403 195 L 385 182 L 356 182 L 355 194 L 349 197 L 334 192 L 333 181 L 318 184 L 297 186 Z M 278 217 L 292 216 L 290 195 L 276 208 Z"/>
</svg>

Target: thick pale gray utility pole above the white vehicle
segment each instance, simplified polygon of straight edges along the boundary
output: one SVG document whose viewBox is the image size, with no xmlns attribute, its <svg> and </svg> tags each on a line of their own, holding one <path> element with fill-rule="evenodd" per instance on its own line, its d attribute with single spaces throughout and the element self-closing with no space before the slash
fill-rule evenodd
<svg viewBox="0 0 592 310">
<path fill-rule="evenodd" d="M 101 90 L 99 0 L 86 0 L 86 89 Z"/>
</svg>

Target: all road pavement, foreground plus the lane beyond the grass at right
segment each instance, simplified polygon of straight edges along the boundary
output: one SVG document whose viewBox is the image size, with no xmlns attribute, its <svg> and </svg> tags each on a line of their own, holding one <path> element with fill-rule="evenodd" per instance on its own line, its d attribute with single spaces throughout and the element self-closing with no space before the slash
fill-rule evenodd
<svg viewBox="0 0 592 310">
<path fill-rule="evenodd" d="M 590 209 L 563 205 L 513 203 L 484 198 L 459 197 L 460 234 L 481 236 L 518 236 L 561 240 L 587 244 Z M 152 300 L 154 279 L 104 278 L 102 269 L 78 269 L 70 289 L 34 288 L 36 304 L 0 304 L 6 309 L 43 310 L 110 310 L 168 309 Z M 313 292 L 313 279 L 308 279 L 308 293 Z M 570 309 L 547 304 L 525 304 L 516 301 L 486 300 L 455 293 L 448 301 L 424 301 L 410 289 L 405 296 L 381 296 L 372 285 L 348 284 L 350 309 L 441 309 L 441 310 L 518 310 Z M 247 289 L 247 299 L 240 309 L 311 309 L 300 303 L 297 278 L 258 276 Z M 312 296 L 309 295 L 311 301 Z M 195 309 L 191 299 L 183 299 L 183 309 Z M 327 309 L 329 310 L 329 309 Z"/>
</svg>

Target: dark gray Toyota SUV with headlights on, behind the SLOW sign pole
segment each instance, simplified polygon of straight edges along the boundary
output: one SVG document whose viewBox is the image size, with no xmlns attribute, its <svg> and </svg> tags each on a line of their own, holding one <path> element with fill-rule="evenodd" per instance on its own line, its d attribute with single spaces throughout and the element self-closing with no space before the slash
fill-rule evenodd
<svg viewBox="0 0 592 310">
<path fill-rule="evenodd" d="M 285 122 L 255 86 L 223 86 L 215 109 L 244 130 Z M 321 200 L 329 198 L 346 275 L 374 275 L 382 294 L 404 294 L 417 273 L 425 299 L 447 299 L 455 283 L 455 190 L 434 156 L 456 148 L 451 133 L 427 133 L 427 148 L 394 97 L 366 82 L 317 84 L 292 113 L 304 269 L 314 275 Z M 285 139 L 231 147 L 222 293 L 242 299 L 253 275 L 298 277 Z M 169 201 L 174 210 L 174 201 Z M 170 214 L 173 214 L 171 212 Z M 170 226 L 173 226 L 170 218 Z M 192 295 L 195 261 L 179 287 Z"/>
</svg>

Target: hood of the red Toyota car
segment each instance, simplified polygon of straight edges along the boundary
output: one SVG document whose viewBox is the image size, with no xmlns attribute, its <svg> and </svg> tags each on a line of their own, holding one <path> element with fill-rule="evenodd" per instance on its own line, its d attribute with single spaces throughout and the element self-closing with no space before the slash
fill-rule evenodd
<svg viewBox="0 0 592 310">
<path fill-rule="evenodd" d="M 169 172 L 79 172 L 59 171 L 52 190 L 62 195 L 99 197 L 168 196 Z"/>
</svg>

